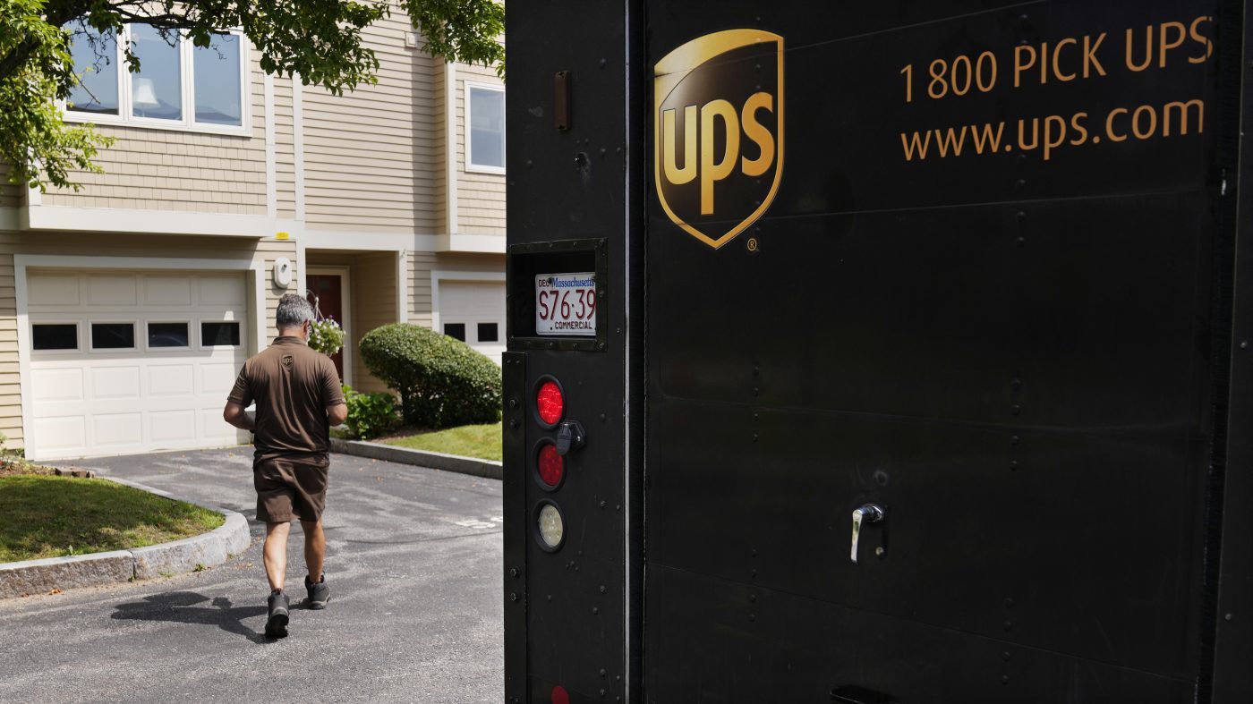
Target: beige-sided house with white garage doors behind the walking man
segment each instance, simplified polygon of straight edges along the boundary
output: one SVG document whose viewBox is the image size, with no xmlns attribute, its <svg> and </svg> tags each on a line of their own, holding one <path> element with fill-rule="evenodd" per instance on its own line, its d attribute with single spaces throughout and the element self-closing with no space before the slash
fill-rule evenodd
<svg viewBox="0 0 1253 704">
<path fill-rule="evenodd" d="M 0 189 L 0 432 L 46 460 L 246 442 L 222 421 L 284 293 L 347 329 L 343 381 L 382 390 L 358 341 L 407 321 L 504 351 L 504 85 L 445 64 L 406 16 L 365 31 L 377 85 L 335 96 L 264 75 L 238 35 L 142 71 L 96 61 L 68 119 L 117 138 L 73 190 Z"/>
</svg>

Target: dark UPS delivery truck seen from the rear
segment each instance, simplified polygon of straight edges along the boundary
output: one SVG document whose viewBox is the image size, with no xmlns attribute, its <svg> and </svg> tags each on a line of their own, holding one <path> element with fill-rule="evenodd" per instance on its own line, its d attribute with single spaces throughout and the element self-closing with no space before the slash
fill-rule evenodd
<svg viewBox="0 0 1253 704">
<path fill-rule="evenodd" d="M 1253 701 L 1245 3 L 506 11 L 506 701 Z"/>
</svg>

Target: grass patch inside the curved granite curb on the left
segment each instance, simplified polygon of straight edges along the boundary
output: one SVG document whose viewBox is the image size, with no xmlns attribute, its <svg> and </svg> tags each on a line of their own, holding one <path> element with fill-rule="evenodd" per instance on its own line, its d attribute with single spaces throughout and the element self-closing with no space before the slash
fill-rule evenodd
<svg viewBox="0 0 1253 704">
<path fill-rule="evenodd" d="M 112 481 L 0 472 L 0 562 L 143 547 L 224 521 Z"/>
</svg>

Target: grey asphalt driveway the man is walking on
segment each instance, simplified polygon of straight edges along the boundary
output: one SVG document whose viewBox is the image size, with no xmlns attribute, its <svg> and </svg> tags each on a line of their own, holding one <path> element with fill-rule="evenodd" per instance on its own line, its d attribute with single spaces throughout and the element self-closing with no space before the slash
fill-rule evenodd
<svg viewBox="0 0 1253 704">
<path fill-rule="evenodd" d="M 291 636 L 262 636 L 251 447 L 86 460 L 103 475 L 233 509 L 253 542 L 224 565 L 0 600 L 0 701 L 500 701 L 500 482 L 335 455 L 331 604 L 303 599 L 288 545 Z"/>
</svg>

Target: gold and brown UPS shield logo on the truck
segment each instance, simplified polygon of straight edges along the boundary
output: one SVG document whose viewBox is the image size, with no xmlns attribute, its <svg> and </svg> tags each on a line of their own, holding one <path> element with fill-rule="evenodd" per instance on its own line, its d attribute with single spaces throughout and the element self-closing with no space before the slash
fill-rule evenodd
<svg viewBox="0 0 1253 704">
<path fill-rule="evenodd" d="M 783 173 L 783 38 L 730 29 L 654 66 L 654 175 L 665 213 L 718 248 L 771 207 Z"/>
</svg>

